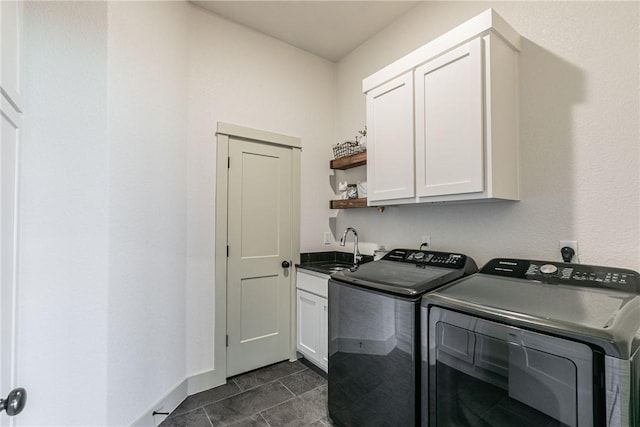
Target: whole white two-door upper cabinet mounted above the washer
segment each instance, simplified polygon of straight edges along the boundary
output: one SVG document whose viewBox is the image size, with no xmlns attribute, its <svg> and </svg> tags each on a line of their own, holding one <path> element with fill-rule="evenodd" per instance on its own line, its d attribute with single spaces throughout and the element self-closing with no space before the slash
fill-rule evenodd
<svg viewBox="0 0 640 427">
<path fill-rule="evenodd" d="M 489 9 L 363 81 L 370 204 L 519 199 L 519 42 Z"/>
</svg>

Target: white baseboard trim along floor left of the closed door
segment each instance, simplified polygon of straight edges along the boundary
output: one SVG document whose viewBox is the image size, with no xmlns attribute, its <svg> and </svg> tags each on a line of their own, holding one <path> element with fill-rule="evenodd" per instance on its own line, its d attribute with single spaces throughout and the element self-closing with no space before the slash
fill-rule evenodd
<svg viewBox="0 0 640 427">
<path fill-rule="evenodd" d="M 154 416 L 154 412 L 171 413 L 187 396 L 223 385 L 226 382 L 226 375 L 220 372 L 220 370 L 211 369 L 191 375 L 165 393 L 155 405 L 147 408 L 130 427 L 157 427 L 167 418 L 167 415 L 158 414 Z"/>
</svg>

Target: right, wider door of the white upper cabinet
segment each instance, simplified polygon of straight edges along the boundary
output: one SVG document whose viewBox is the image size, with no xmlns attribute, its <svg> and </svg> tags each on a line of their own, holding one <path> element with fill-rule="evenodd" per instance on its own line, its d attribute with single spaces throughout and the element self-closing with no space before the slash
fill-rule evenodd
<svg viewBox="0 0 640 427">
<path fill-rule="evenodd" d="M 416 194 L 484 190 L 482 39 L 415 71 Z"/>
</svg>

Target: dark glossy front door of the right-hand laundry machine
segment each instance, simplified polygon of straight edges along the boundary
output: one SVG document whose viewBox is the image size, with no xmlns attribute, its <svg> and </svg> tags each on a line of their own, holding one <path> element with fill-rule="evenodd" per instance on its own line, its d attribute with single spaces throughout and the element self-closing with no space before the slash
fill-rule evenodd
<svg viewBox="0 0 640 427">
<path fill-rule="evenodd" d="M 589 346 L 439 307 L 428 334 L 423 425 L 594 425 Z"/>
</svg>

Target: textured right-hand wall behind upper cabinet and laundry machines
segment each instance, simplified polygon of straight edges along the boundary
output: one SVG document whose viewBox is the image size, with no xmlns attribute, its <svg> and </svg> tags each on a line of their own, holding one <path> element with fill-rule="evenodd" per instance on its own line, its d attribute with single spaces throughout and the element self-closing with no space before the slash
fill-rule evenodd
<svg viewBox="0 0 640 427">
<path fill-rule="evenodd" d="M 522 200 L 344 210 L 337 229 L 387 247 L 416 247 L 427 234 L 434 249 L 479 264 L 559 259 L 558 241 L 578 240 L 583 263 L 640 268 L 637 2 L 420 4 L 339 62 L 338 136 L 364 123 L 364 77 L 488 7 L 524 37 Z"/>
</svg>

